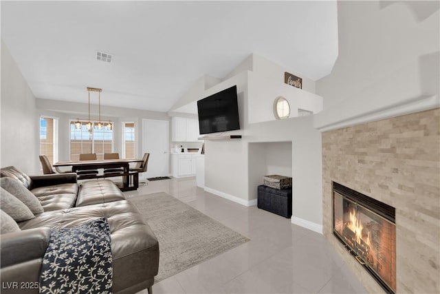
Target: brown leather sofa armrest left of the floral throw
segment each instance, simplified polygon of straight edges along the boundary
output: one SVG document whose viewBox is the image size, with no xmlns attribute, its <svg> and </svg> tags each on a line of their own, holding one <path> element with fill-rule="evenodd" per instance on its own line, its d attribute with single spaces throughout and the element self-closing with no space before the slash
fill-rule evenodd
<svg viewBox="0 0 440 294">
<path fill-rule="evenodd" d="M 0 235 L 1 267 L 43 258 L 49 239 L 45 227 Z"/>
</svg>

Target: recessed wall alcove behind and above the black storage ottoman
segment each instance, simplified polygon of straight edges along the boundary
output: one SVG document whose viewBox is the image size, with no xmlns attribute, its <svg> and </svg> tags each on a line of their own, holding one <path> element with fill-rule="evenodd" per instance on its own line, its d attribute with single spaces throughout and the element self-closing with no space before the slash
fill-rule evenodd
<svg viewBox="0 0 440 294">
<path fill-rule="evenodd" d="M 249 143 L 250 199 L 256 199 L 257 187 L 270 174 L 292 177 L 292 141 Z"/>
</svg>

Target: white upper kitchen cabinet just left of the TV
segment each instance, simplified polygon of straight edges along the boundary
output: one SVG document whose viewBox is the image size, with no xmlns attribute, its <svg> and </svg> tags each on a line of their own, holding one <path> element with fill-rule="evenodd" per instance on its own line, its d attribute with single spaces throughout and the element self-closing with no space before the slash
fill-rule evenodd
<svg viewBox="0 0 440 294">
<path fill-rule="evenodd" d="M 171 118 L 171 140 L 173 142 L 197 142 L 199 136 L 199 120 L 178 116 Z"/>
</svg>

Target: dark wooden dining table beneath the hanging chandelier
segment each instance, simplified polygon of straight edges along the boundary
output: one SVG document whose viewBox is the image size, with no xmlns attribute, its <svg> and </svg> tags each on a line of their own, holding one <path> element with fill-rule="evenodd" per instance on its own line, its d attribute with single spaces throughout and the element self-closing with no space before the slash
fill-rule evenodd
<svg viewBox="0 0 440 294">
<path fill-rule="evenodd" d="M 139 186 L 139 174 L 137 171 L 130 171 L 130 163 L 142 162 L 137 158 L 120 158 L 120 159 L 98 159 L 98 160 L 61 160 L 54 163 L 54 167 L 72 167 L 72 172 L 86 169 L 115 169 L 121 168 L 120 173 L 98 173 L 78 175 L 78 180 L 94 179 L 94 178 L 111 178 L 122 176 L 122 185 L 118 185 L 121 191 L 135 190 Z M 132 185 L 131 185 L 132 183 Z"/>
</svg>

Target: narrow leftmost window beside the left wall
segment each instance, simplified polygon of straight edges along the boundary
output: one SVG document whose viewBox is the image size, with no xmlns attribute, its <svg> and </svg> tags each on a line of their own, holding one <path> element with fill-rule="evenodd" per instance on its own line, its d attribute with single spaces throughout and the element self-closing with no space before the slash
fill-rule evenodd
<svg viewBox="0 0 440 294">
<path fill-rule="evenodd" d="M 57 125 L 56 118 L 40 117 L 40 155 L 47 156 L 52 165 L 58 161 Z"/>
</svg>

